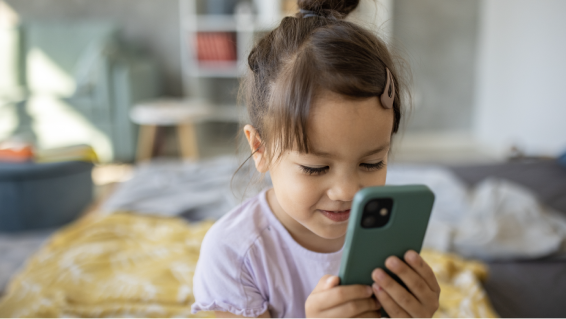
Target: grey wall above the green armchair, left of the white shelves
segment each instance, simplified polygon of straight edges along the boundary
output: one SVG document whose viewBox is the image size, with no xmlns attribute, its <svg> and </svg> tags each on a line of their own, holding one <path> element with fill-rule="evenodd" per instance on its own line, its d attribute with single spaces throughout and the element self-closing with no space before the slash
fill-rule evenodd
<svg viewBox="0 0 566 319">
<path fill-rule="evenodd" d="M 122 40 L 154 57 L 167 95 L 182 95 L 178 0 L 4 0 L 21 21 L 105 20 Z"/>
</svg>

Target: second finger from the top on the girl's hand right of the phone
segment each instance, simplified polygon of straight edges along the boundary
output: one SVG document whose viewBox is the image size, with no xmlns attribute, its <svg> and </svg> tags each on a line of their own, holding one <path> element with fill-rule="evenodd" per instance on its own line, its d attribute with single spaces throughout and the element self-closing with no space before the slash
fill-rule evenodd
<svg viewBox="0 0 566 319">
<path fill-rule="evenodd" d="M 385 266 L 407 285 L 407 288 L 409 288 L 411 293 L 413 293 L 422 304 L 429 303 L 432 299 L 438 297 L 437 294 L 430 289 L 424 278 L 399 258 L 395 256 L 387 258 Z"/>
</svg>

